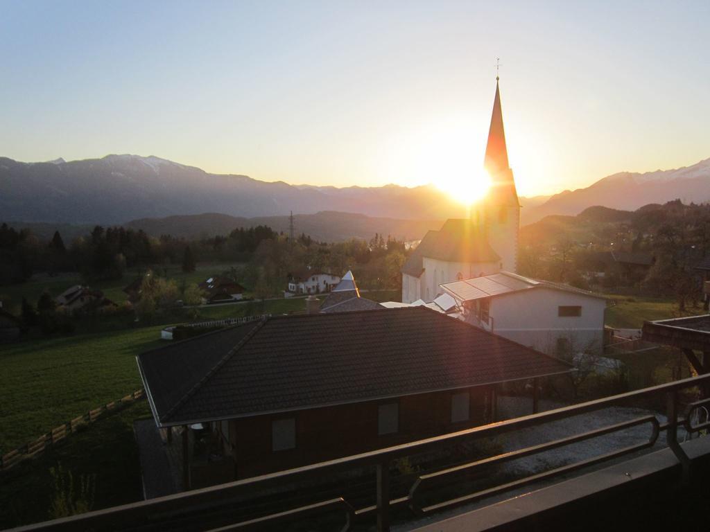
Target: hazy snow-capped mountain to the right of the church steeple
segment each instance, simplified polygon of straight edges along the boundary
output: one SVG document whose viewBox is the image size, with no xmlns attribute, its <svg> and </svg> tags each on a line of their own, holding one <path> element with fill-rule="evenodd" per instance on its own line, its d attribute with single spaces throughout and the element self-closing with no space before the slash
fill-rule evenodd
<svg viewBox="0 0 710 532">
<path fill-rule="evenodd" d="M 585 189 L 565 190 L 539 206 L 523 209 L 521 218 L 527 224 L 551 214 L 575 216 L 595 205 L 635 211 L 647 204 L 665 204 L 673 199 L 685 203 L 710 201 L 710 159 L 677 170 L 613 174 Z"/>
</svg>

